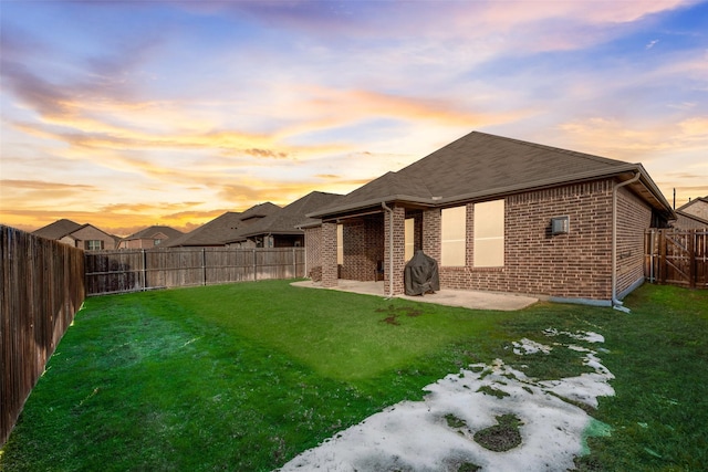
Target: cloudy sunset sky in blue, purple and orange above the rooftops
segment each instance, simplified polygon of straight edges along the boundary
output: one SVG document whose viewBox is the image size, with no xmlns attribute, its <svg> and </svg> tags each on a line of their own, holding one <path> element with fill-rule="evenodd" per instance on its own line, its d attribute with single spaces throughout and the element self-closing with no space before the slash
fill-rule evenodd
<svg viewBox="0 0 708 472">
<path fill-rule="evenodd" d="M 0 222 L 183 231 L 480 130 L 708 196 L 708 3 L 0 0 Z"/>
</svg>

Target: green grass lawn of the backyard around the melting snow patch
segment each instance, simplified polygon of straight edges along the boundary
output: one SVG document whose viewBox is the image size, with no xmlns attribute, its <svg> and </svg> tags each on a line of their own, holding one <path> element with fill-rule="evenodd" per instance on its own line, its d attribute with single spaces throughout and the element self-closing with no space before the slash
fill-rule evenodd
<svg viewBox="0 0 708 472">
<path fill-rule="evenodd" d="M 258 282 L 94 297 L 6 444 L 8 471 L 272 470 L 542 329 L 595 331 L 617 395 L 582 470 L 705 470 L 708 292 L 643 286 L 632 314 L 469 311 Z M 524 358 L 544 378 L 575 358 Z"/>
</svg>

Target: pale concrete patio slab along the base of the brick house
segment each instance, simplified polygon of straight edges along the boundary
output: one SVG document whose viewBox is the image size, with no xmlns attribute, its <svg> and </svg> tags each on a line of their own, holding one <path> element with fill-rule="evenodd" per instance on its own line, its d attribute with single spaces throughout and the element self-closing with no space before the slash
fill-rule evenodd
<svg viewBox="0 0 708 472">
<path fill-rule="evenodd" d="M 324 289 L 320 282 L 312 281 L 293 282 L 291 285 L 306 289 Z M 339 285 L 329 290 L 384 297 L 384 282 L 360 282 L 340 279 Z M 471 310 L 499 310 L 503 312 L 525 308 L 539 301 L 532 296 L 467 290 L 440 290 L 434 294 L 420 296 L 396 295 L 396 297 L 414 302 L 437 303 L 438 305 L 461 306 Z"/>
</svg>

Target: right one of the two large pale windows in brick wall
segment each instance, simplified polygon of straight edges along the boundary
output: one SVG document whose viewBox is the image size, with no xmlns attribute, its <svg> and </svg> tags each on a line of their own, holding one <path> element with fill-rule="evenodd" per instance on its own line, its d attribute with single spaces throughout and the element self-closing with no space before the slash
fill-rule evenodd
<svg viewBox="0 0 708 472">
<path fill-rule="evenodd" d="M 475 203 L 475 266 L 504 265 L 504 201 Z"/>
</svg>

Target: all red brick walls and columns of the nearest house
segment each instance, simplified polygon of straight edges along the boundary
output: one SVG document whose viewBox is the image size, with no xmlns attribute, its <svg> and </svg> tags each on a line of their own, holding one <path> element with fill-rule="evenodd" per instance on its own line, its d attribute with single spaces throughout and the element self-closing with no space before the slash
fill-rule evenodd
<svg viewBox="0 0 708 472">
<path fill-rule="evenodd" d="M 612 296 L 612 188 L 613 180 L 539 190 L 504 199 L 504 265 L 473 268 L 473 204 L 467 206 L 467 265 L 439 268 L 444 289 L 485 290 L 566 298 L 610 301 Z M 643 277 L 643 234 L 650 209 L 629 190 L 620 189 L 617 204 L 617 293 Z M 551 218 L 570 217 L 568 234 L 551 234 Z M 394 207 L 394 294 L 404 291 L 404 208 Z M 345 225 L 345 264 L 351 279 L 373 280 L 372 264 L 388 255 L 389 213 Z M 440 261 L 440 209 L 420 213 L 424 252 Z M 325 228 L 329 225 L 329 229 Z M 348 234 L 347 234 L 348 227 Z M 378 233 L 377 233 L 378 232 Z M 383 238 L 381 233 L 383 232 Z M 327 235 L 332 244 L 324 244 Z M 417 240 L 417 238 L 416 238 Z M 372 241 L 383 241 L 372 243 Z M 323 285 L 336 285 L 336 224 L 325 223 L 316 261 L 316 233 L 308 232 L 310 268 L 321 265 Z M 367 245 L 368 244 L 368 245 Z M 325 248 L 326 245 L 326 248 Z M 383 254 L 383 258 L 381 258 Z M 381 259 L 379 259 L 381 258 Z M 310 262 L 312 261 L 312 262 Z M 329 262 L 326 262 L 329 261 Z M 327 265 L 334 268 L 327 274 Z M 389 266 L 385 262 L 385 293 Z"/>
</svg>

